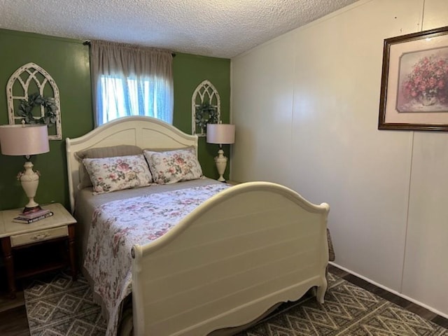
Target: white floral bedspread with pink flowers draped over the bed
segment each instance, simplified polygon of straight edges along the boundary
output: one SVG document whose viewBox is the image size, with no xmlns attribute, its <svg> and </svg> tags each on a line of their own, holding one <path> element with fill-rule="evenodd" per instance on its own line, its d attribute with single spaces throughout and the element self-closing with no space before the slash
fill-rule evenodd
<svg viewBox="0 0 448 336">
<path fill-rule="evenodd" d="M 226 188 L 226 184 L 213 184 L 173 190 L 116 200 L 95 209 L 84 267 L 109 313 L 107 335 L 117 335 L 121 302 L 132 290 L 132 245 L 158 239 Z"/>
</svg>

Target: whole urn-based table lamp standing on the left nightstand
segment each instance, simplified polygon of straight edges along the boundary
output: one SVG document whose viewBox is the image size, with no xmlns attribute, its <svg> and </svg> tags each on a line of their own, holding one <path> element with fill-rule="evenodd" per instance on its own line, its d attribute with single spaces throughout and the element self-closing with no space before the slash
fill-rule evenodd
<svg viewBox="0 0 448 336">
<path fill-rule="evenodd" d="M 25 156 L 25 165 L 23 165 L 25 171 L 18 174 L 18 179 L 20 179 L 22 188 L 25 190 L 29 199 L 28 204 L 23 209 L 23 214 L 29 214 L 41 209 L 39 204 L 34 202 L 39 184 L 39 173 L 33 170 L 31 155 L 50 151 L 48 144 L 48 126 L 25 124 L 1 125 L 0 146 L 3 155 Z"/>
</svg>

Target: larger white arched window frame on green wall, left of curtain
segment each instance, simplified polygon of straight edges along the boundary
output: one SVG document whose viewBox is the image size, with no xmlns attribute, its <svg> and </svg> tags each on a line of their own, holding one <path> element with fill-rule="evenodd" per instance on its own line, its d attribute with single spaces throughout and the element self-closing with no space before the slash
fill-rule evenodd
<svg viewBox="0 0 448 336">
<path fill-rule="evenodd" d="M 50 88 L 48 88 L 50 87 Z M 51 95 L 48 92 L 51 91 Z M 56 120 L 48 127 L 48 139 L 62 140 L 61 127 L 61 103 L 59 99 L 59 88 L 50 73 L 35 63 L 28 63 L 20 66 L 8 80 L 6 85 L 6 99 L 8 100 L 8 119 L 10 125 L 21 123 L 22 116 L 18 116 L 18 106 L 22 100 L 28 101 L 30 94 L 40 94 L 41 97 L 52 97 L 56 106 Z M 40 115 L 35 119 L 45 116 L 45 107 L 41 104 Z"/>
</svg>

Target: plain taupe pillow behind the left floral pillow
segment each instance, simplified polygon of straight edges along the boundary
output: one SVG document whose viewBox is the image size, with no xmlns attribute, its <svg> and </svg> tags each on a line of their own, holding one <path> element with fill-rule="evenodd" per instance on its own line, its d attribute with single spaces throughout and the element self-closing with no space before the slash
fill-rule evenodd
<svg viewBox="0 0 448 336">
<path fill-rule="evenodd" d="M 113 158 L 116 156 L 138 154 L 143 154 L 143 151 L 139 146 L 118 145 L 110 147 L 89 148 L 85 151 L 76 152 L 74 155 L 76 160 L 78 160 L 79 162 L 83 162 L 83 159 L 86 158 Z M 92 181 L 90 181 L 90 176 L 87 173 L 87 170 L 85 170 L 84 165 L 80 165 L 78 189 L 83 189 L 91 186 Z"/>
</svg>

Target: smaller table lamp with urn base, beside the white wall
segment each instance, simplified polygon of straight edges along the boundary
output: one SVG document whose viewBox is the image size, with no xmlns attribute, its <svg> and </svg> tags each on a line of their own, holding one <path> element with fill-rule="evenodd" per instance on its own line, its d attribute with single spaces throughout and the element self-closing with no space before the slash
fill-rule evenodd
<svg viewBox="0 0 448 336">
<path fill-rule="evenodd" d="M 235 125 L 229 124 L 207 124 L 207 142 L 218 144 L 218 156 L 215 158 L 216 169 L 218 169 L 218 181 L 225 182 L 223 174 L 227 166 L 227 158 L 224 156 L 223 145 L 235 144 Z"/>
</svg>

